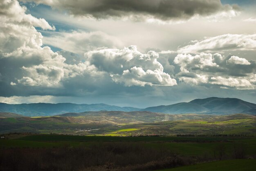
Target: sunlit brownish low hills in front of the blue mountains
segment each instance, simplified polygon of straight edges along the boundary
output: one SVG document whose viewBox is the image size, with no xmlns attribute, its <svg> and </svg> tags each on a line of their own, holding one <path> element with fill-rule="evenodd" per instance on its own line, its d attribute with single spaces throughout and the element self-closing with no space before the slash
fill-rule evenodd
<svg viewBox="0 0 256 171">
<path fill-rule="evenodd" d="M 58 120 L 61 120 L 60 118 L 69 118 L 70 122 L 73 123 L 131 124 L 161 122 L 168 120 L 206 119 L 213 117 L 213 115 L 167 115 L 164 113 L 154 113 L 148 111 L 89 111 L 83 113 L 64 113 L 54 117 L 58 118 Z M 53 117 L 47 117 L 45 119 L 51 118 Z"/>
</svg>

